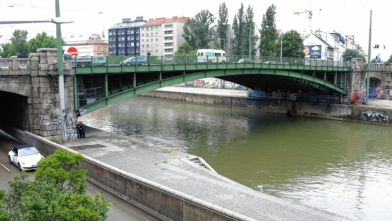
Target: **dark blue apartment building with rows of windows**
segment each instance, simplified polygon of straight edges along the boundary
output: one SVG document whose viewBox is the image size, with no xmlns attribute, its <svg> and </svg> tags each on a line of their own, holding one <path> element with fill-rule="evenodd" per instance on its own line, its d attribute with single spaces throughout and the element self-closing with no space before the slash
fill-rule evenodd
<svg viewBox="0 0 392 221">
<path fill-rule="evenodd" d="M 117 23 L 109 28 L 109 54 L 114 56 L 140 56 L 140 27 L 147 23 L 143 16 L 136 17 L 136 20 L 123 19 L 122 23 Z"/>
</svg>

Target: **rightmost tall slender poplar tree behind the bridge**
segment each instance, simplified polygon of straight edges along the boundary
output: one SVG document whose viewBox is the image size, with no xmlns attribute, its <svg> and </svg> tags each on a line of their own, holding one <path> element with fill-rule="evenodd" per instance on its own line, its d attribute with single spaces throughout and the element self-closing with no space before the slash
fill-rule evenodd
<svg viewBox="0 0 392 221">
<path fill-rule="evenodd" d="M 276 6 L 272 4 L 268 7 L 266 14 L 263 15 L 263 22 L 261 23 L 260 32 L 260 55 L 261 56 L 274 56 L 274 45 L 278 39 L 276 34 L 275 24 Z"/>
</svg>

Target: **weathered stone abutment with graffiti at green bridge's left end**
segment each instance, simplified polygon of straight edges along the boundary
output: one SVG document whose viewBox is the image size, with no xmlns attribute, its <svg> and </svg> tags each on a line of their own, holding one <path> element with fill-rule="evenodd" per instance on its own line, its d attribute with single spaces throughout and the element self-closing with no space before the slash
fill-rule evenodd
<svg viewBox="0 0 392 221">
<path fill-rule="evenodd" d="M 74 131 L 73 71 L 71 57 L 64 59 L 65 110 L 59 110 L 57 51 L 41 48 L 27 59 L 0 58 L 1 123 L 41 136 L 62 137 Z M 68 122 L 61 117 L 69 115 Z M 71 137 L 70 137 L 71 138 Z"/>
</svg>

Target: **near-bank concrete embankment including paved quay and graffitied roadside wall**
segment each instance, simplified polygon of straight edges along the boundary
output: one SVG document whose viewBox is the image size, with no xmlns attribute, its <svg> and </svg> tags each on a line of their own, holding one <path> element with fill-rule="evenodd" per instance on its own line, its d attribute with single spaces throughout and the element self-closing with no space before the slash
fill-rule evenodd
<svg viewBox="0 0 392 221">
<path fill-rule="evenodd" d="M 249 189 L 193 162 L 196 156 L 88 128 L 62 145 L 9 130 L 46 155 L 80 153 L 89 181 L 159 220 L 347 220 L 346 217 Z M 202 160 L 201 160 L 202 162 Z"/>
</svg>

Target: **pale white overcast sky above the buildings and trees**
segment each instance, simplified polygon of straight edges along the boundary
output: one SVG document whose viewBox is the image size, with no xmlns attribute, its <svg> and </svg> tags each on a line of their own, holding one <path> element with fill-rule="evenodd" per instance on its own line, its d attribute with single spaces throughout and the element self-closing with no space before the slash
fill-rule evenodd
<svg viewBox="0 0 392 221">
<path fill-rule="evenodd" d="M 309 30 L 310 22 L 307 13 L 294 15 L 294 12 L 321 9 L 313 12 L 313 30 L 335 30 L 342 34 L 354 35 L 355 42 L 361 44 L 366 52 L 372 10 L 371 44 L 380 44 L 380 48 L 372 49 L 371 57 L 374 58 L 380 53 L 382 60 L 388 60 L 392 54 L 392 44 L 389 40 L 392 29 L 388 27 L 392 21 L 390 0 L 60 0 L 61 17 L 75 21 L 61 25 L 62 37 L 83 35 L 87 39 L 91 34 L 102 34 L 102 30 L 107 36 L 108 29 L 115 23 L 122 22 L 123 18 L 134 20 L 137 16 L 143 16 L 145 20 L 173 16 L 194 17 L 204 9 L 211 11 L 218 18 L 219 5 L 222 2 L 225 2 L 228 8 L 230 24 L 242 2 L 245 10 L 248 5 L 253 8 L 254 21 L 259 27 L 263 14 L 273 3 L 276 6 L 276 27 L 282 28 L 283 31 L 294 29 L 299 33 Z M 9 7 L 10 4 L 15 6 Z M 0 21 L 50 20 L 55 17 L 55 0 L 1 0 L 0 8 Z M 53 23 L 2 24 L 0 36 L 9 38 L 15 29 L 27 30 L 28 38 L 33 38 L 42 31 L 56 36 L 56 27 Z M 383 49 L 382 45 L 386 45 L 386 49 Z"/>
</svg>

